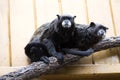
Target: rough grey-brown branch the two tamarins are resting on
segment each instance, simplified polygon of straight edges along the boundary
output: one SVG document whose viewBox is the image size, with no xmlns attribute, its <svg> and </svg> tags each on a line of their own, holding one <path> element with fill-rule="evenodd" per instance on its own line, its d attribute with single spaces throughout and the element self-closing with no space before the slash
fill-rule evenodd
<svg viewBox="0 0 120 80">
<path fill-rule="evenodd" d="M 100 50 L 105 50 L 118 46 L 120 46 L 120 36 L 106 38 L 99 42 L 97 45 L 95 45 L 93 49 L 95 50 L 95 52 L 97 52 Z M 51 63 L 49 65 L 45 64 L 42 61 L 35 62 L 20 70 L 1 76 L 0 80 L 30 80 L 37 76 L 54 72 L 58 68 L 61 68 L 68 63 L 79 60 L 81 57 L 67 54 L 64 56 L 64 58 L 65 60 L 62 65 L 59 65 L 54 57 L 50 57 Z"/>
</svg>

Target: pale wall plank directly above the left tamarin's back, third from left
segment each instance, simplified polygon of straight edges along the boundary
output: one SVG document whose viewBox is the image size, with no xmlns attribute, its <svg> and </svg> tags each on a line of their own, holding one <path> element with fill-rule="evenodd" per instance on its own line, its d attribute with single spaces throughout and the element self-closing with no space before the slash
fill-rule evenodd
<svg viewBox="0 0 120 80">
<path fill-rule="evenodd" d="M 51 22 L 59 14 L 59 5 L 57 0 L 36 0 L 37 27 Z"/>
</svg>

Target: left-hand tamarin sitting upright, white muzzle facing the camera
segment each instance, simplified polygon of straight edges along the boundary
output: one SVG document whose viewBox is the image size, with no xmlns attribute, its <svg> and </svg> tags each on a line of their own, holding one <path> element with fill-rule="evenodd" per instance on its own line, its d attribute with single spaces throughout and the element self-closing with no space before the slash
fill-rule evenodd
<svg viewBox="0 0 120 80">
<path fill-rule="evenodd" d="M 54 56 L 58 61 L 63 61 L 63 55 L 60 52 L 61 46 L 64 43 L 69 42 L 72 36 L 74 36 L 75 16 L 57 16 L 58 18 L 51 23 L 46 23 L 38 28 L 30 42 L 25 47 L 25 53 L 31 61 L 39 61 L 42 56 Z M 70 25 L 67 25 L 66 21 L 65 26 L 67 27 L 63 27 L 62 22 L 64 20 L 69 20 Z M 46 57 L 42 57 L 42 60 L 45 61 Z"/>
</svg>

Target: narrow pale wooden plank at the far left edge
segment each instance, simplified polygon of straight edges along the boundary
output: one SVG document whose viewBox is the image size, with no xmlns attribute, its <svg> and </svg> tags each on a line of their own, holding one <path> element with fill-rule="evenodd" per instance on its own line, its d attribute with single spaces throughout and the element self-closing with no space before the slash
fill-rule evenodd
<svg viewBox="0 0 120 80">
<path fill-rule="evenodd" d="M 9 30 L 8 1 L 0 1 L 0 66 L 10 66 L 9 63 Z M 4 62 L 3 62 L 4 60 Z"/>
</svg>

